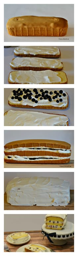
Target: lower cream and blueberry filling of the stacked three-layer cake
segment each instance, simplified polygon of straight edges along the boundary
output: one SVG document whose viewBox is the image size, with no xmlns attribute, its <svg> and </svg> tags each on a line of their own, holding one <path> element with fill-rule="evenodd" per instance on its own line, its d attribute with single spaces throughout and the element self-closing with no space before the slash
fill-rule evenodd
<svg viewBox="0 0 78 256">
<path fill-rule="evenodd" d="M 70 159 L 70 157 L 55 157 L 55 156 L 5 156 L 4 159 L 9 159 L 8 157 L 10 157 L 10 160 L 15 160 L 15 161 L 43 161 L 43 160 L 60 160 L 60 159 Z"/>
</svg>

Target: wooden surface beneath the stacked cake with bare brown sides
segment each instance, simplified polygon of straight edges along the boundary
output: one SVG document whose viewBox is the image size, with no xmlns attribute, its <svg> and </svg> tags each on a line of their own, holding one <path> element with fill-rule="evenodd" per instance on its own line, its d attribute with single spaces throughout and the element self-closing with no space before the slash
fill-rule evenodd
<svg viewBox="0 0 78 256">
<path fill-rule="evenodd" d="M 11 164 L 4 162 L 4 168 L 74 168 L 74 160 L 68 164 Z"/>
</svg>

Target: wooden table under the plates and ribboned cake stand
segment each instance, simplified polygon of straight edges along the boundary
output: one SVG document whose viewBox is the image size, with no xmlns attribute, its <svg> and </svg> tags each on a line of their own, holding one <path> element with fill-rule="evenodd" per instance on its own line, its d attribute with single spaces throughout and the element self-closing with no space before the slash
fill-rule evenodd
<svg viewBox="0 0 78 256">
<path fill-rule="evenodd" d="M 43 235 L 41 234 L 41 231 L 24 231 L 28 233 L 31 236 L 30 241 L 27 244 L 42 244 L 50 249 L 53 249 L 55 252 L 74 252 L 74 238 L 67 239 L 67 243 L 65 245 L 54 245 L 49 242 L 47 237 L 43 240 Z M 6 241 L 6 237 L 13 232 L 4 232 L 4 242 L 8 245 L 11 252 L 16 252 L 20 246 L 23 245 L 11 245 Z M 6 252 L 4 250 L 4 252 Z"/>
</svg>

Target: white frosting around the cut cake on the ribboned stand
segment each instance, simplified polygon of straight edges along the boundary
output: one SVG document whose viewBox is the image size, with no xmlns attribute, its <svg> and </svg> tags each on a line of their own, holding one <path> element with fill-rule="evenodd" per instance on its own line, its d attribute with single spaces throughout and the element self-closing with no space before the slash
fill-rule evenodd
<svg viewBox="0 0 78 256">
<path fill-rule="evenodd" d="M 46 216 L 45 216 L 45 224 L 47 225 L 47 222 L 49 222 L 48 220 L 47 220 L 47 218 L 48 217 L 58 217 L 58 218 L 62 218 L 63 219 L 63 221 L 61 222 L 61 224 L 63 224 L 62 225 L 62 228 L 66 225 L 66 218 L 67 218 L 67 214 L 47 214 Z M 51 223 L 51 222 L 50 222 Z M 60 223 L 60 222 L 59 222 Z M 58 223 L 57 223 L 57 226 L 58 226 Z M 49 225 L 48 225 L 48 227 L 49 227 Z M 57 229 L 58 229 L 58 227 L 57 227 Z"/>
</svg>

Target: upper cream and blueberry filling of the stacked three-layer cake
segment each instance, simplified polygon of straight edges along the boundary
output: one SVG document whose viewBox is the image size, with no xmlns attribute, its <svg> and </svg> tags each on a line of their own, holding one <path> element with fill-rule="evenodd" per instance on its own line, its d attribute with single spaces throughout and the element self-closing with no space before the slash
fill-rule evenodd
<svg viewBox="0 0 78 256">
<path fill-rule="evenodd" d="M 60 154 L 69 154 L 71 153 L 70 149 L 56 149 L 56 148 L 46 148 L 46 147 L 36 147 L 36 148 L 26 148 L 26 147 L 19 147 L 19 148 L 12 148 L 12 149 L 5 149 L 5 152 L 13 152 L 13 151 L 49 151 L 54 153 Z"/>
</svg>

